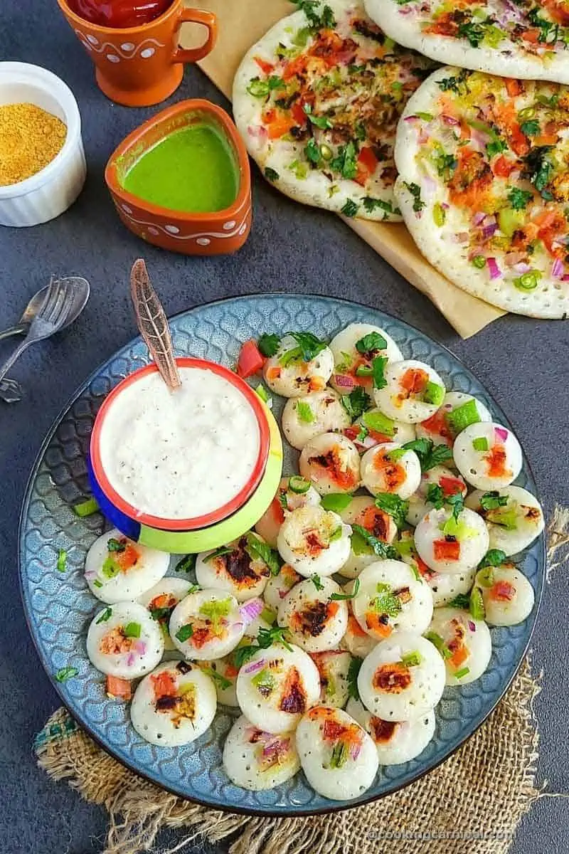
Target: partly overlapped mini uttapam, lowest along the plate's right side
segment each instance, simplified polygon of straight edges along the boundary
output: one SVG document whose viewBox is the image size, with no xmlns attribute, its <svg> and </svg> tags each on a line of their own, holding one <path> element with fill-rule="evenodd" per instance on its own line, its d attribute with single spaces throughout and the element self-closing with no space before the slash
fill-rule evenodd
<svg viewBox="0 0 569 854">
<path fill-rule="evenodd" d="M 437 608 L 425 637 L 444 659 L 447 685 L 467 685 L 485 672 L 492 654 L 490 629 L 461 608 Z"/>
</svg>

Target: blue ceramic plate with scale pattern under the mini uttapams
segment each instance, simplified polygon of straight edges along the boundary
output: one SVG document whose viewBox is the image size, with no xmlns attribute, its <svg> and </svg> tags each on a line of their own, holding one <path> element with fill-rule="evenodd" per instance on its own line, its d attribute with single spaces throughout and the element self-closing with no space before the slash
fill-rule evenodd
<svg viewBox="0 0 569 854">
<path fill-rule="evenodd" d="M 316 296 L 244 296 L 180 314 L 171 320 L 171 329 L 178 355 L 232 365 L 241 342 L 258 337 L 262 330 L 305 329 L 330 338 L 354 321 L 385 329 L 405 359 L 429 362 L 448 389 L 476 395 L 496 421 L 509 426 L 478 380 L 447 350 L 400 320 L 355 303 Z M 184 798 L 226 810 L 288 816 L 341 810 L 380 798 L 433 769 L 473 734 L 514 678 L 537 617 L 545 566 L 543 538 L 523 555 L 523 570 L 536 592 L 530 617 L 513 628 L 491 629 L 490 667 L 470 685 L 445 689 L 437 709 L 435 738 L 427 749 L 412 762 L 380 768 L 374 786 L 356 800 L 342 803 L 322 798 L 302 773 L 270 792 L 235 787 L 221 763 L 224 735 L 233 720 L 223 708 L 195 744 L 166 748 L 143 741 L 131 728 L 128 708 L 107 699 L 102 675 L 91 666 L 85 651 L 87 627 L 98 605 L 83 578 L 85 554 L 102 533 L 103 519 L 98 513 L 78 518 L 72 506 L 89 494 L 85 453 L 97 408 L 115 383 L 147 361 L 147 349 L 137 338 L 84 383 L 49 431 L 26 491 L 20 524 L 22 597 L 39 657 L 67 708 L 109 753 L 138 774 Z M 292 452 L 287 463 L 294 463 Z M 517 483 L 535 494 L 527 462 Z M 65 573 L 55 565 L 60 549 L 67 551 Z M 78 675 L 56 682 L 55 673 L 70 666 L 77 668 Z"/>
</svg>

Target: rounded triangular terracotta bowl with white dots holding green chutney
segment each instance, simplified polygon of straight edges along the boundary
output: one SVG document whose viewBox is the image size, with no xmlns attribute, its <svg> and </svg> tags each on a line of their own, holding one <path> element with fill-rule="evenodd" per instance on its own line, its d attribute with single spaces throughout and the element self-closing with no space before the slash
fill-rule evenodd
<svg viewBox="0 0 569 854">
<path fill-rule="evenodd" d="M 195 122 L 216 126 L 229 141 L 239 173 L 235 202 L 221 211 L 186 213 L 161 208 L 127 192 L 125 174 L 141 155 L 172 131 Z M 251 229 L 251 173 L 247 150 L 229 115 L 200 98 L 181 101 L 156 114 L 129 134 L 113 151 L 105 170 L 107 187 L 120 219 L 130 231 L 162 249 L 192 255 L 235 252 Z"/>
</svg>

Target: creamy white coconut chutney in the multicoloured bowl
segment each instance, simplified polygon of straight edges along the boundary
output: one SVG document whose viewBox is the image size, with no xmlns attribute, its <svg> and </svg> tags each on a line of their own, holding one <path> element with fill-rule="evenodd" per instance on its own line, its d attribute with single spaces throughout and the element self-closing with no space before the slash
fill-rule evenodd
<svg viewBox="0 0 569 854">
<path fill-rule="evenodd" d="M 213 371 L 179 366 L 171 391 L 158 372 L 128 385 L 102 424 L 102 467 L 139 513 L 189 519 L 224 506 L 247 485 L 258 460 L 253 407 Z"/>
</svg>

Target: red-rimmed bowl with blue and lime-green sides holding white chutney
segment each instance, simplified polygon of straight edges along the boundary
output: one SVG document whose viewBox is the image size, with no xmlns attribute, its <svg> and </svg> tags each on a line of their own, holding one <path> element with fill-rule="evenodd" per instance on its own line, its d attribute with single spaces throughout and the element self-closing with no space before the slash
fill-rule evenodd
<svg viewBox="0 0 569 854">
<path fill-rule="evenodd" d="M 158 371 L 154 364 L 134 371 L 107 395 L 91 433 L 87 468 L 103 515 L 131 540 L 165 552 L 196 553 L 236 539 L 263 515 L 276 494 L 282 475 L 282 439 L 270 409 L 233 371 L 215 362 L 189 357 L 177 359 L 177 364 L 183 368 L 207 369 L 224 377 L 241 391 L 253 409 L 260 436 L 258 459 L 251 477 L 235 498 L 205 516 L 167 519 L 140 512 L 113 488 L 102 465 L 102 427 L 119 395 L 136 380 Z"/>
</svg>

